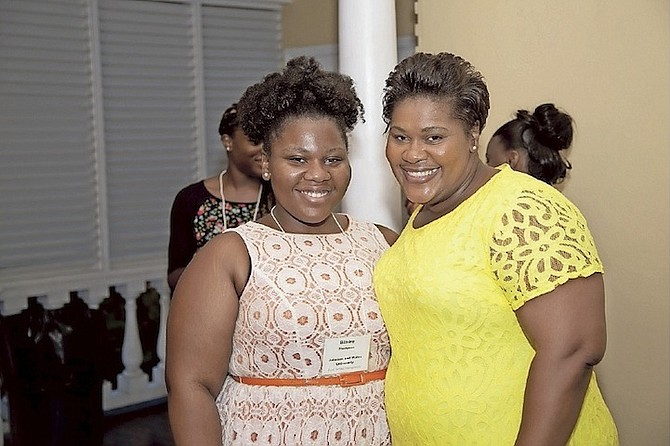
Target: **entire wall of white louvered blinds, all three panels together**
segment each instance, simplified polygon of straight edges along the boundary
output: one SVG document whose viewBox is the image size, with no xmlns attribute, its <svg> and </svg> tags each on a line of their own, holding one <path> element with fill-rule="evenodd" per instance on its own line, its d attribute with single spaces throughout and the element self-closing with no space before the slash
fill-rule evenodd
<svg viewBox="0 0 670 446">
<path fill-rule="evenodd" d="M 0 0 L 0 280 L 165 264 L 175 194 L 225 164 L 221 113 L 281 64 L 280 8 Z"/>
</svg>

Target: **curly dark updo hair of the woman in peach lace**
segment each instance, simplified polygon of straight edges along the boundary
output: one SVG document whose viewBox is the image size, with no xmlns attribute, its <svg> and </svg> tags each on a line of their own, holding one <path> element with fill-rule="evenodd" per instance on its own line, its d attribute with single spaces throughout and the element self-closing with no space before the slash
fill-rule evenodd
<svg viewBox="0 0 670 446">
<path fill-rule="evenodd" d="M 313 57 L 300 56 L 247 88 L 238 113 L 247 137 L 262 142 L 269 154 L 286 122 L 299 117 L 333 119 L 348 147 L 347 134 L 363 121 L 364 110 L 349 76 L 324 71 Z"/>
</svg>

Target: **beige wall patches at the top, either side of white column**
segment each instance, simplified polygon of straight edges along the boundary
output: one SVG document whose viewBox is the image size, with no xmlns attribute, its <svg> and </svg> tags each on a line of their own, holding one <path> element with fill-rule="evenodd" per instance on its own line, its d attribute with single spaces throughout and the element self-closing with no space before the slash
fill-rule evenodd
<svg viewBox="0 0 670 446">
<path fill-rule="evenodd" d="M 397 35 L 412 35 L 413 0 L 395 3 Z M 337 0 L 293 0 L 283 7 L 282 32 L 284 48 L 337 44 Z"/>
</svg>

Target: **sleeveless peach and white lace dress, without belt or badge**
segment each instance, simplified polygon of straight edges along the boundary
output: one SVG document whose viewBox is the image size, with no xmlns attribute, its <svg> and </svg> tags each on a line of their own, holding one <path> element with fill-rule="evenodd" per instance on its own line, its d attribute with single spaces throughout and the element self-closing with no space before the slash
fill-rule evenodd
<svg viewBox="0 0 670 446">
<path fill-rule="evenodd" d="M 368 370 L 386 369 L 390 343 L 372 271 L 388 243 L 373 224 L 348 220 L 344 234 L 285 234 L 255 222 L 231 229 L 251 259 L 231 375 L 324 376 L 326 338 L 368 333 Z M 216 403 L 226 446 L 390 444 L 383 380 L 352 387 L 273 387 L 228 376 Z"/>
</svg>

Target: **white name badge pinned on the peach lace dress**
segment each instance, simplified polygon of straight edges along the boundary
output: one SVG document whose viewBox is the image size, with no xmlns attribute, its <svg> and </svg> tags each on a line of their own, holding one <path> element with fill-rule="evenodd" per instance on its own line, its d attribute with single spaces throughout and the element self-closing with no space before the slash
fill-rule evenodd
<svg viewBox="0 0 670 446">
<path fill-rule="evenodd" d="M 329 338 L 323 346 L 324 375 L 360 372 L 368 369 L 370 335 Z"/>
</svg>

